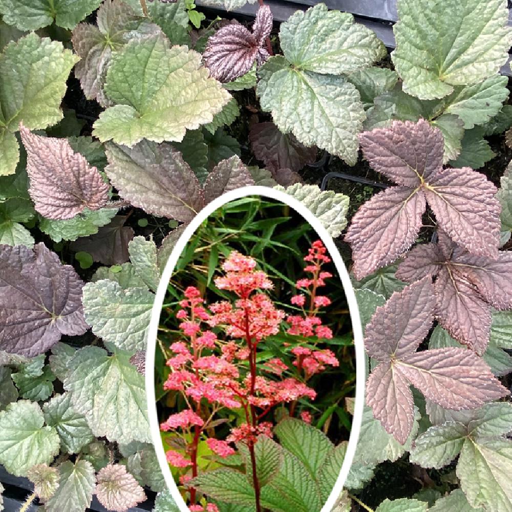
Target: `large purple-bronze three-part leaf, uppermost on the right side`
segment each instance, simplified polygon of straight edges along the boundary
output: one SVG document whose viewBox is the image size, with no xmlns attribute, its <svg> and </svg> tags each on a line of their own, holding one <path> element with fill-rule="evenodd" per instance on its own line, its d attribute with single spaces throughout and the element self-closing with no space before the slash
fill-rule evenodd
<svg viewBox="0 0 512 512">
<path fill-rule="evenodd" d="M 345 239 L 353 272 L 362 279 L 385 266 L 415 241 L 425 199 L 440 228 L 468 251 L 496 258 L 500 205 L 496 187 L 470 168 L 443 169 L 443 138 L 427 121 L 393 121 L 389 129 L 360 135 L 365 157 L 398 183 L 357 211 Z"/>
</svg>

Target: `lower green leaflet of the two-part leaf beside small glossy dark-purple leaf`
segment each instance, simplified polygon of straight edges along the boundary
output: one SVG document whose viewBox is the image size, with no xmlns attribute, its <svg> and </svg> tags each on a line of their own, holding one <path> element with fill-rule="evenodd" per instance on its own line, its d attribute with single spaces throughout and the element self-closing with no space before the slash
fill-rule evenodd
<svg viewBox="0 0 512 512">
<path fill-rule="evenodd" d="M 292 68 L 281 56 L 268 59 L 258 74 L 261 108 L 272 113 L 283 133 L 293 132 L 306 146 L 316 144 L 349 165 L 356 163 L 357 135 L 366 116 L 355 86 L 343 76 Z"/>
</svg>

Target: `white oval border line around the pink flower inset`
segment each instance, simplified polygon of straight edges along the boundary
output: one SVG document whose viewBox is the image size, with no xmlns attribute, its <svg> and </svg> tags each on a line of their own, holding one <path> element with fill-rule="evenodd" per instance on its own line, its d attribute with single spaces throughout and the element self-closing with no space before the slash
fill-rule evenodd
<svg viewBox="0 0 512 512">
<path fill-rule="evenodd" d="M 241 199 L 247 196 L 263 196 L 270 199 L 275 199 L 276 201 L 280 201 L 284 204 L 287 204 L 295 211 L 297 211 L 298 214 L 304 217 L 304 219 L 316 231 L 319 238 L 324 242 L 324 245 L 329 251 L 329 255 L 334 263 L 334 266 L 336 267 L 339 278 L 342 281 L 345 296 L 347 297 L 350 318 L 352 322 L 352 330 L 354 334 L 354 345 L 356 353 L 355 404 L 354 415 L 352 418 L 352 428 L 350 431 L 347 451 L 345 453 L 345 459 L 343 461 L 341 471 L 339 472 L 338 478 L 333 489 L 331 490 L 329 498 L 327 499 L 325 505 L 322 507 L 322 510 L 319 511 L 330 512 L 338 496 L 342 492 L 343 484 L 345 483 L 345 480 L 350 470 L 350 466 L 352 464 L 352 460 L 354 458 L 357 440 L 359 438 L 359 430 L 361 428 L 362 411 L 364 407 L 365 396 L 365 352 L 362 341 L 361 321 L 359 317 L 359 309 L 357 307 L 354 289 L 352 287 L 352 283 L 350 281 L 347 268 L 345 266 L 345 263 L 343 262 L 342 257 L 339 254 L 339 251 L 334 245 L 332 237 L 329 235 L 329 233 L 324 228 L 322 223 L 312 214 L 312 212 L 303 203 L 301 203 L 300 201 L 296 200 L 295 198 L 291 197 L 290 195 L 286 194 L 281 190 L 254 185 L 237 188 L 235 190 L 231 190 L 223 194 L 222 196 L 216 198 L 211 203 L 208 203 L 199 212 L 199 214 L 190 222 L 190 224 L 185 228 L 180 238 L 178 239 L 178 242 L 176 243 L 176 246 L 174 247 L 173 251 L 170 253 L 169 259 L 167 260 L 167 263 L 165 265 L 164 271 L 162 273 L 162 278 L 160 279 L 160 283 L 158 285 L 158 289 L 156 292 L 147 337 L 148 341 L 145 361 L 145 386 L 151 437 L 153 440 L 153 444 L 155 446 L 157 459 L 160 464 L 160 468 L 162 470 L 162 474 L 164 476 L 165 483 L 167 484 L 167 488 L 169 489 L 170 494 L 174 498 L 174 501 L 176 502 L 180 512 L 189 512 L 189 509 L 185 501 L 183 500 L 179 493 L 178 486 L 174 481 L 173 475 L 170 472 L 170 468 L 165 457 L 165 451 L 163 449 L 163 444 L 160 437 L 160 425 L 157 417 L 155 398 L 155 349 L 156 338 L 158 333 L 158 324 L 160 322 L 162 304 L 165 299 L 165 294 L 167 291 L 167 284 L 169 283 L 170 277 L 174 271 L 174 267 L 176 266 L 178 259 L 190 238 L 199 228 L 201 223 L 207 217 L 209 217 L 215 210 L 225 205 L 226 203 L 229 203 L 230 201 Z M 312 510 L 311 512 L 314 511 Z"/>
</svg>

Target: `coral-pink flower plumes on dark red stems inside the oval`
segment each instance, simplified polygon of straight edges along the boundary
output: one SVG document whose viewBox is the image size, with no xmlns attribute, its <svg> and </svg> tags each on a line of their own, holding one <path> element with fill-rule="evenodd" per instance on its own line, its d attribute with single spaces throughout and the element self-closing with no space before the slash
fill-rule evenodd
<svg viewBox="0 0 512 512">
<path fill-rule="evenodd" d="M 184 292 L 182 309 L 176 313 L 182 338 L 170 345 L 174 355 L 166 363 L 170 373 L 164 389 L 179 391 L 188 408 L 170 415 L 160 428 L 164 432 L 179 432 L 183 438 L 184 450 L 171 449 L 166 455 L 172 466 L 190 466 L 190 472 L 182 474 L 181 480 L 189 490 L 191 509 L 197 503 L 194 478 L 199 474 L 198 444 L 206 438 L 208 447 L 221 458 L 234 455 L 234 446 L 242 453 L 248 452 L 246 472 L 254 489 L 255 507 L 262 510 L 261 487 L 266 481 L 259 475 L 257 450 L 273 437 L 273 424 L 267 415 L 272 408 L 290 404 L 289 416 L 293 417 L 299 398 L 313 400 L 316 396 L 306 385 L 307 380 L 327 365 L 339 366 L 332 351 L 315 347 L 332 338 L 332 331 L 322 325 L 318 316 L 330 304 L 328 297 L 318 294 L 318 289 L 332 276 L 322 270 L 330 258 L 321 241 L 313 243 L 304 260 L 310 277 L 297 281 L 297 288 L 304 293 L 291 298 L 291 304 L 302 309 L 299 315 L 286 315 L 275 307 L 267 292 L 273 288 L 272 282 L 257 269 L 253 258 L 238 251 L 228 255 L 222 264 L 224 275 L 215 278 L 219 290 L 234 295 L 232 302 L 206 305 L 196 287 L 189 286 Z M 297 340 L 311 339 L 313 344 L 312 349 L 301 345 L 290 349 L 296 357 L 293 365 L 297 377 L 283 375 L 289 368 L 280 358 L 265 360 L 264 364 L 258 362 L 258 346 L 285 325 Z M 222 409 L 240 409 L 243 421 L 230 428 L 225 440 L 208 437 L 207 432 L 214 429 L 216 415 Z M 303 410 L 301 417 L 308 420 L 310 415 Z M 208 506 L 215 508 L 214 504 Z"/>
</svg>

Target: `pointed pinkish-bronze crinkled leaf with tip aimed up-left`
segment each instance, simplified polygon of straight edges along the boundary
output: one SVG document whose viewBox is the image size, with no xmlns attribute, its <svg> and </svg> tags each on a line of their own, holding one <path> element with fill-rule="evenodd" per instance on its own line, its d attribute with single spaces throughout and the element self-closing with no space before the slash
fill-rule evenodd
<svg viewBox="0 0 512 512">
<path fill-rule="evenodd" d="M 40 137 L 23 124 L 20 133 L 27 150 L 30 197 L 42 216 L 67 220 L 84 208 L 99 210 L 106 205 L 109 185 L 66 139 Z"/>
</svg>

